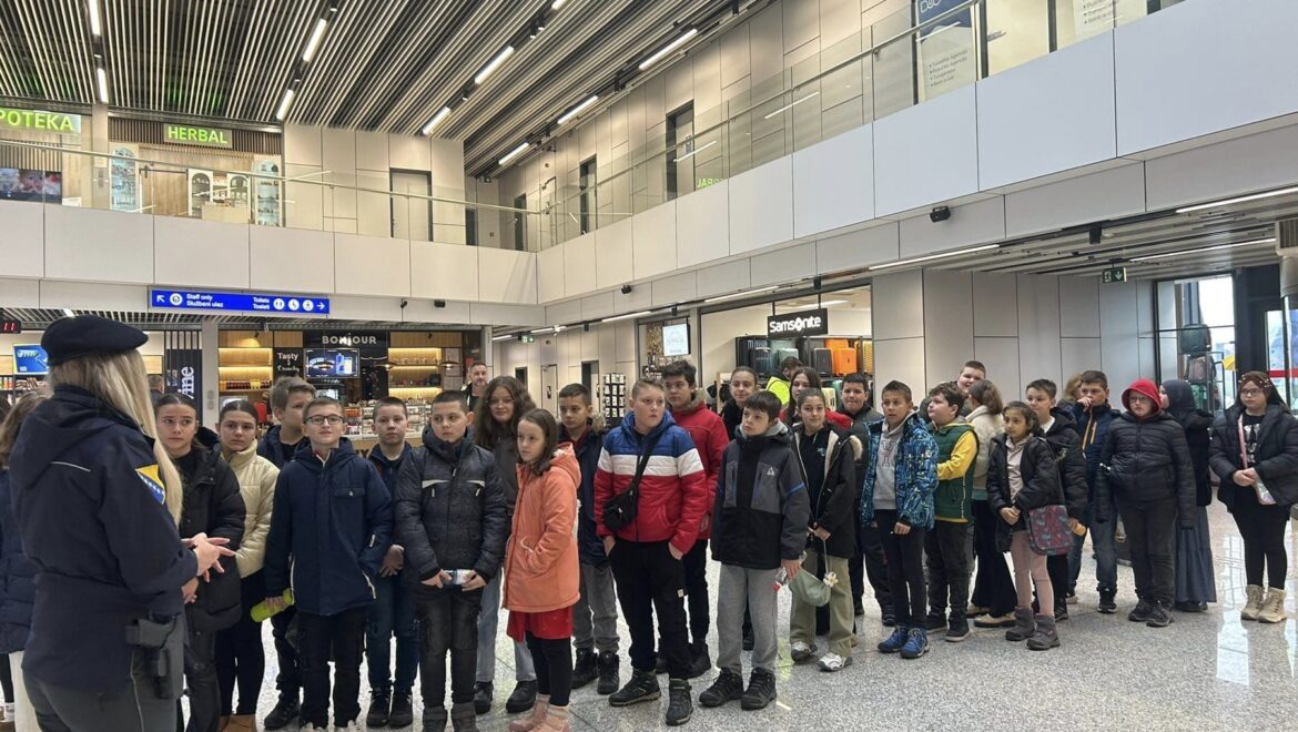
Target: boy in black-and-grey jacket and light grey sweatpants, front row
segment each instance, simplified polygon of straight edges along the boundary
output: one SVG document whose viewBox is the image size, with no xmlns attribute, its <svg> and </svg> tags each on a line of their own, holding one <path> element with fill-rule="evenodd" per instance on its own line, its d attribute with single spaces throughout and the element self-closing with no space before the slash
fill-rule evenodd
<svg viewBox="0 0 1298 732">
<path fill-rule="evenodd" d="M 744 709 L 754 710 L 776 696 L 776 593 L 771 587 L 781 568 L 790 580 L 801 571 L 810 504 L 775 395 L 749 397 L 740 431 L 726 448 L 713 510 L 713 558 L 722 563 L 716 588 L 720 675 L 698 703 L 741 700 Z M 745 604 L 754 636 L 746 692 L 740 663 Z"/>
</svg>

